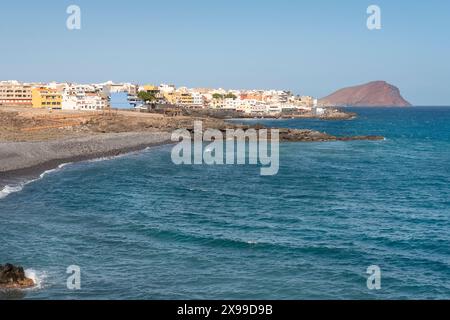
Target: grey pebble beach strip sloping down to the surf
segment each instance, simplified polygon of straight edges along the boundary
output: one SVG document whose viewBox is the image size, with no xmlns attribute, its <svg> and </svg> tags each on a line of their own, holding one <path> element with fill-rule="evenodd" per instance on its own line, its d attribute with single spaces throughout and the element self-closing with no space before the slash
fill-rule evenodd
<svg viewBox="0 0 450 320">
<path fill-rule="evenodd" d="M 117 156 L 170 143 L 168 132 L 106 133 L 83 138 L 0 143 L 0 190 L 64 163 Z"/>
</svg>

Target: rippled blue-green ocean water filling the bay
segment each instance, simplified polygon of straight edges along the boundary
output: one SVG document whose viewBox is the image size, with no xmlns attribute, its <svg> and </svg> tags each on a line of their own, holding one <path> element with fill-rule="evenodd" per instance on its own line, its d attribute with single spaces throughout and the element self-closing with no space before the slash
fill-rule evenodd
<svg viewBox="0 0 450 320">
<path fill-rule="evenodd" d="M 71 164 L 0 199 L 11 299 L 450 299 L 450 108 L 266 120 L 386 141 L 283 143 L 280 172 L 170 146 Z M 255 121 L 253 121 L 255 122 Z M 260 121 L 259 121 L 260 122 Z M 69 290 L 70 265 L 81 290 Z M 381 290 L 366 270 L 381 268 Z"/>
</svg>

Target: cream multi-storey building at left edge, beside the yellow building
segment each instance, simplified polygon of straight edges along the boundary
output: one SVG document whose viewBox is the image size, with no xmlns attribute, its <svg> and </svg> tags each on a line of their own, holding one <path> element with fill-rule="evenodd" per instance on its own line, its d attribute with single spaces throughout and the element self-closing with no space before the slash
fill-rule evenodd
<svg viewBox="0 0 450 320">
<path fill-rule="evenodd" d="M 17 81 L 0 82 L 0 105 L 31 106 L 31 85 Z"/>
</svg>

